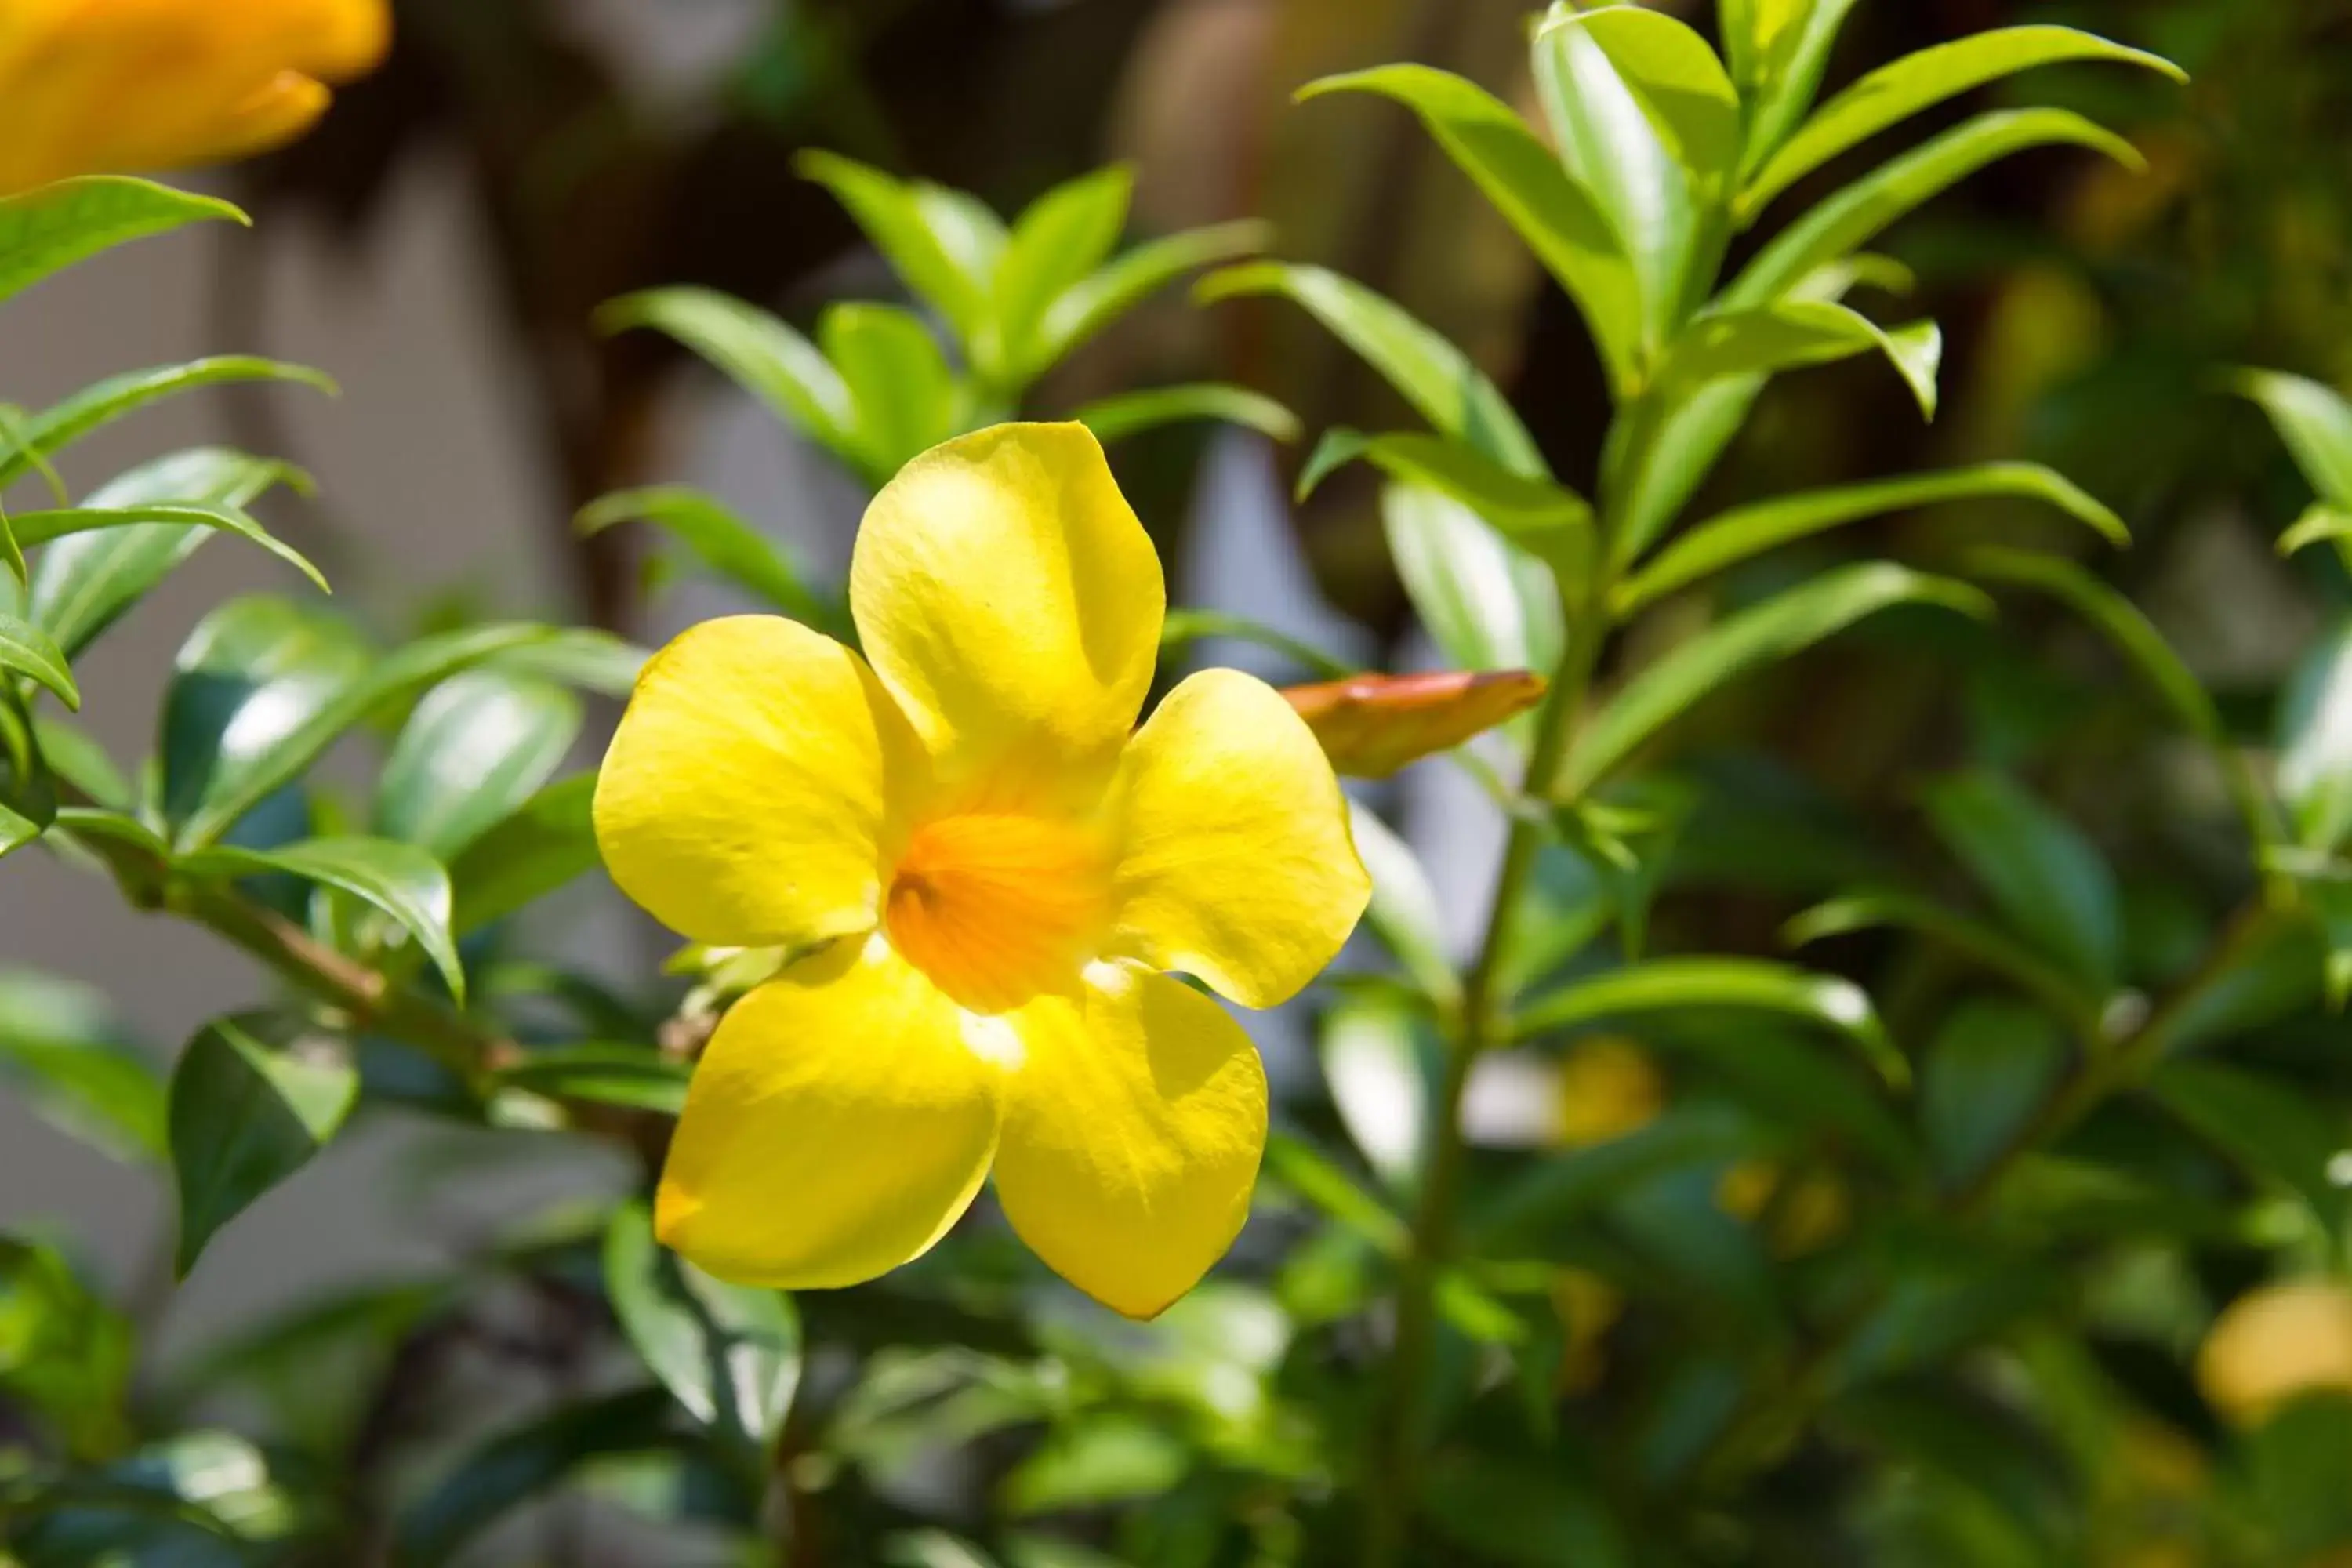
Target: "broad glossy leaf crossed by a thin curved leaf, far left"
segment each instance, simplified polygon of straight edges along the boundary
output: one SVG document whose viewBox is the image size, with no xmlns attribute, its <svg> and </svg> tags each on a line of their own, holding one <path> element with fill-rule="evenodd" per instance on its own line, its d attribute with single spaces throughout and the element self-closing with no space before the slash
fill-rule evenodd
<svg viewBox="0 0 2352 1568">
<path fill-rule="evenodd" d="M 118 512 L 139 505 L 245 508 L 273 484 L 306 487 L 299 468 L 270 458 L 195 447 L 141 463 L 99 487 L 85 510 Z M 59 538 L 42 550 L 26 595 L 28 616 L 66 658 L 115 623 L 214 536 L 214 527 L 153 522 Z"/>
</svg>

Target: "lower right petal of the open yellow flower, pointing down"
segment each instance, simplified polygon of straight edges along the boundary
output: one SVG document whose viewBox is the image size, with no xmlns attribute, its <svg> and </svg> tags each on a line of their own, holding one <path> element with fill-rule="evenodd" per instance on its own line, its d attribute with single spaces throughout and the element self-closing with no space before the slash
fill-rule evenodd
<svg viewBox="0 0 2352 1568">
<path fill-rule="evenodd" d="M 997 1150 L 1004 1215 L 1094 1300 L 1157 1316 L 1249 1218 L 1265 1154 L 1256 1048 L 1209 997 L 1124 964 L 1007 1018 L 1023 1058 Z"/>
</svg>

